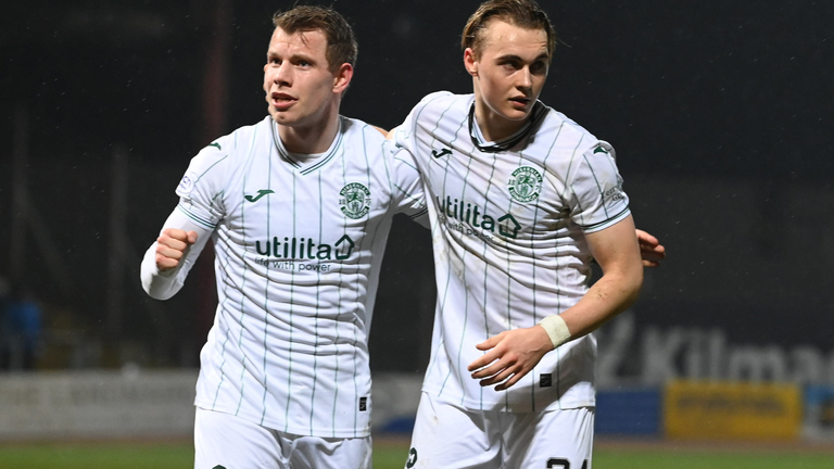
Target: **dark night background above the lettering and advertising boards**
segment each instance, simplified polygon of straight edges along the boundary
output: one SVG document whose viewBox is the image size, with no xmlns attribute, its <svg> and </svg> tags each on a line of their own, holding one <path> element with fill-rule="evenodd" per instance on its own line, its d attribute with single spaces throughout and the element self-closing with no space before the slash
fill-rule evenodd
<svg viewBox="0 0 834 469">
<path fill-rule="evenodd" d="M 428 92 L 469 92 L 459 34 L 478 3 L 331 3 L 359 42 L 343 114 L 390 128 Z M 615 145 L 637 225 L 669 250 L 647 275 L 637 325 L 832 351 L 834 3 L 542 4 L 560 38 L 542 100 Z M 189 159 L 266 115 L 270 18 L 291 5 L 4 5 L 0 275 L 42 305 L 37 367 L 197 365 L 210 264 L 155 302 L 139 262 Z M 397 219 L 383 268 L 372 365 L 421 370 L 428 236 Z"/>
</svg>

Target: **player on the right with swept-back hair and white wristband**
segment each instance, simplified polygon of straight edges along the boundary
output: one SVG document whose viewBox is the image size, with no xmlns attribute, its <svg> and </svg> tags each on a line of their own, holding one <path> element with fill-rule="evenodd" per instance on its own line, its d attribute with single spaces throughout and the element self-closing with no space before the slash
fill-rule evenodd
<svg viewBox="0 0 834 469">
<path fill-rule="evenodd" d="M 591 332 L 643 268 L 614 149 L 538 100 L 555 43 L 534 1 L 484 2 L 463 34 L 473 93 L 431 93 L 391 134 L 424 179 L 438 284 L 406 468 L 591 467 Z"/>
</svg>

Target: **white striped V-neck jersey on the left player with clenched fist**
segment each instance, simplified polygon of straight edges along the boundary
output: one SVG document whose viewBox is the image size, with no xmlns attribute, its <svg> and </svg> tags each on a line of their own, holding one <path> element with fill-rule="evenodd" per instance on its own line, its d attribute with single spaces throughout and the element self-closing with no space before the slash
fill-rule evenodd
<svg viewBox="0 0 834 469">
<path fill-rule="evenodd" d="M 326 153 L 292 154 L 266 117 L 191 161 L 177 211 L 212 236 L 218 294 L 197 406 L 299 435 L 370 433 L 367 344 L 386 241 L 394 213 L 426 211 L 397 151 L 340 117 Z"/>
</svg>

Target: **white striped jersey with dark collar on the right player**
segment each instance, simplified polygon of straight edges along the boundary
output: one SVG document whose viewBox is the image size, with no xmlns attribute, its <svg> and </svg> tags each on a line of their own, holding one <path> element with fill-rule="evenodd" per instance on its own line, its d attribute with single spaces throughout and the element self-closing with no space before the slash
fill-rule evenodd
<svg viewBox="0 0 834 469">
<path fill-rule="evenodd" d="M 427 96 L 395 129 L 428 202 L 438 303 L 422 390 L 469 409 L 538 411 L 595 404 L 593 335 L 546 354 L 507 391 L 466 367 L 476 344 L 574 305 L 589 289 L 583 233 L 629 215 L 614 149 L 536 102 L 516 135 L 485 142 L 475 98 Z"/>
</svg>

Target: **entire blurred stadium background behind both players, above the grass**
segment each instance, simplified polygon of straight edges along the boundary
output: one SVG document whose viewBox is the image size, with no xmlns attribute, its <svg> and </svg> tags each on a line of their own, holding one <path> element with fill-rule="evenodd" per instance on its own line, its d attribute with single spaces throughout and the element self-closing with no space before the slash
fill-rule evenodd
<svg viewBox="0 0 834 469">
<path fill-rule="evenodd" d="M 333 1 L 359 41 L 343 113 L 390 128 L 427 92 L 467 91 L 459 30 L 478 3 Z M 144 295 L 139 262 L 189 159 L 265 115 L 270 16 L 291 4 L 5 5 L 0 447 L 188 446 L 211 258 L 167 302 Z M 670 253 L 597 334 L 601 451 L 755 444 L 834 467 L 834 4 L 542 4 L 561 39 L 543 101 L 614 143 L 637 225 Z M 431 268 L 428 236 L 397 220 L 371 335 L 382 440 L 410 430 Z"/>
</svg>

